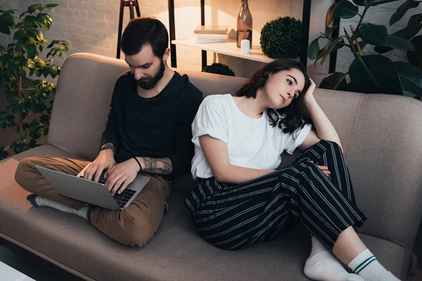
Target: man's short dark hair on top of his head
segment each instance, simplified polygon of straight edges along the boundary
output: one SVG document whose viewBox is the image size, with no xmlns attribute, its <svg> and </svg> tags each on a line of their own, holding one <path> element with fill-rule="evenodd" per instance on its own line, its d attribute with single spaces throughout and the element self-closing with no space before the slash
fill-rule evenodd
<svg viewBox="0 0 422 281">
<path fill-rule="evenodd" d="M 120 47 L 125 55 L 136 55 L 145 44 L 150 44 L 154 55 L 162 58 L 169 45 L 169 34 L 160 20 L 134 18 L 124 29 Z"/>
</svg>

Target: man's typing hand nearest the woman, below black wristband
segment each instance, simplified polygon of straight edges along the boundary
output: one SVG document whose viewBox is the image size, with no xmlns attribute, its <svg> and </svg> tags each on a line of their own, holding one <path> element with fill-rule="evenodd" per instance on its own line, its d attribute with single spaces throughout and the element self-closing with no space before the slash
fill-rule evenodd
<svg viewBox="0 0 422 281">
<path fill-rule="evenodd" d="M 107 179 L 107 189 L 112 195 L 115 195 L 115 193 L 122 193 L 123 190 L 127 188 L 127 185 L 134 181 L 138 171 L 139 165 L 133 158 L 116 164 L 113 168 L 109 169 L 104 176 Z"/>
</svg>

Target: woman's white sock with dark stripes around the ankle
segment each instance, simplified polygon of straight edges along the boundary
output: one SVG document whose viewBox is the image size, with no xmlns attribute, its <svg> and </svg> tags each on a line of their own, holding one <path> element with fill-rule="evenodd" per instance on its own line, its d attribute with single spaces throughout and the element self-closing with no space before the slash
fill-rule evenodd
<svg viewBox="0 0 422 281">
<path fill-rule="evenodd" d="M 349 263 L 353 273 L 362 276 L 366 281 L 399 281 L 376 260 L 369 249 L 362 251 Z"/>
</svg>

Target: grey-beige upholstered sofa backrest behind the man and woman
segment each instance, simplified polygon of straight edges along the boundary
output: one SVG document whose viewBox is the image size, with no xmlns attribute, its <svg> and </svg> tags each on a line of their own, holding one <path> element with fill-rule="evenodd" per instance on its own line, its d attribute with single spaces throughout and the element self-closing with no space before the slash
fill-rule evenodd
<svg viewBox="0 0 422 281">
<path fill-rule="evenodd" d="M 115 81 L 126 70 L 124 60 L 71 55 L 58 79 L 49 143 L 94 159 Z M 235 93 L 245 82 L 203 72 L 179 73 L 188 74 L 204 96 Z M 411 249 L 422 216 L 422 103 L 323 89 L 314 95 L 342 141 L 357 205 L 368 216 L 362 233 Z"/>
</svg>

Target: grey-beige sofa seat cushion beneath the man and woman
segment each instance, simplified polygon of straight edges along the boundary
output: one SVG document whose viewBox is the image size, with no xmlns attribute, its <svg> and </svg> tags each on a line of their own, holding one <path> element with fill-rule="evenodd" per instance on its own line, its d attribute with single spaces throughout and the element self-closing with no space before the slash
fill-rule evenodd
<svg viewBox="0 0 422 281">
<path fill-rule="evenodd" d="M 32 207 L 27 192 L 13 180 L 18 160 L 30 156 L 72 157 L 51 145 L 0 162 L 0 233 L 63 268 L 94 280 L 307 280 L 302 273 L 310 250 L 309 234 L 295 227 L 281 239 L 240 251 L 207 244 L 193 229 L 185 195 L 174 192 L 170 211 L 143 248 L 122 246 L 83 218 Z M 403 280 L 411 254 L 392 242 L 368 235 L 362 240 L 377 258 Z"/>
</svg>

